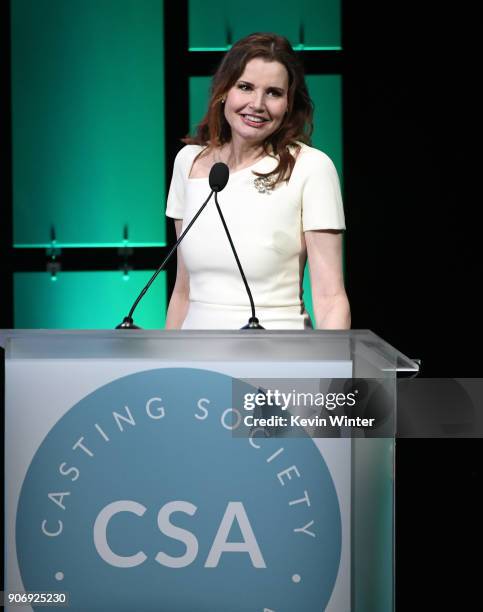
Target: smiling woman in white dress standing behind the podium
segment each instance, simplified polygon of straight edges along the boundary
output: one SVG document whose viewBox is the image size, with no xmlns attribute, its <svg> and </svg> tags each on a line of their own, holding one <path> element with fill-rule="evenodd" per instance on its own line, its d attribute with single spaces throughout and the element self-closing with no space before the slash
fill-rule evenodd
<svg viewBox="0 0 483 612">
<path fill-rule="evenodd" d="M 348 329 L 345 229 L 332 161 L 308 146 L 313 105 L 286 38 L 252 34 L 225 55 L 208 112 L 175 159 L 166 214 L 179 236 L 209 194 L 212 165 L 230 170 L 220 207 L 265 329 L 311 327 L 302 300 L 308 257 L 315 324 Z M 166 329 L 239 329 L 248 296 L 214 202 L 178 249 Z"/>
</svg>

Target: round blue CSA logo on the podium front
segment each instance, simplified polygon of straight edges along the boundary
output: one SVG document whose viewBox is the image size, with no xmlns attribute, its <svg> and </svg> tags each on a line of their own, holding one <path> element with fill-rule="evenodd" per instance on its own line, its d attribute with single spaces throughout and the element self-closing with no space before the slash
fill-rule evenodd
<svg viewBox="0 0 483 612">
<path fill-rule="evenodd" d="M 231 401 L 229 376 L 167 368 L 73 406 L 22 485 L 25 590 L 78 612 L 324 610 L 341 553 L 327 466 L 309 438 L 234 437 Z"/>
</svg>

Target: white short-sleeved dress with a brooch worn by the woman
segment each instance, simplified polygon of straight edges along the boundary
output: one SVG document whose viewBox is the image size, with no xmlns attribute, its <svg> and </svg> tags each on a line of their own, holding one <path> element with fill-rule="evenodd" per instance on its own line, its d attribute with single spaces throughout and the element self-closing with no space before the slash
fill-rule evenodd
<svg viewBox="0 0 483 612">
<path fill-rule="evenodd" d="M 265 329 L 311 327 L 302 298 L 307 252 L 303 232 L 345 229 L 339 178 L 322 151 L 301 145 L 290 180 L 269 193 L 254 184 L 257 172 L 277 161 L 264 157 L 232 172 L 218 202 L 230 230 Z M 199 145 L 176 156 L 166 215 L 183 219 L 183 229 L 210 193 L 208 178 L 188 178 Z M 207 204 L 180 247 L 190 279 L 190 303 L 183 329 L 240 329 L 251 316 L 250 302 L 216 210 Z"/>
</svg>

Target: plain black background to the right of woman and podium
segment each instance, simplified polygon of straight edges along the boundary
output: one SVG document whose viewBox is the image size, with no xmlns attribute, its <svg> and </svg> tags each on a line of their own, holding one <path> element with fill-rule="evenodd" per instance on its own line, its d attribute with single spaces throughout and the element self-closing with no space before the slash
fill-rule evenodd
<svg viewBox="0 0 483 612">
<path fill-rule="evenodd" d="M 425 377 L 482 372 L 476 24 L 466 3 L 345 3 L 353 327 Z M 482 441 L 396 448 L 397 610 L 482 610 Z"/>
</svg>

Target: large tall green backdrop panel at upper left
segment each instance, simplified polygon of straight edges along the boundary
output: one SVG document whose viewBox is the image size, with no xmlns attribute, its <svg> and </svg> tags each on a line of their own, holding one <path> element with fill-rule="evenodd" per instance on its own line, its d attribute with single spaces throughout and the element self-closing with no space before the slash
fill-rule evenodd
<svg viewBox="0 0 483 612">
<path fill-rule="evenodd" d="M 164 244 L 162 0 L 11 15 L 15 246 Z"/>
</svg>

